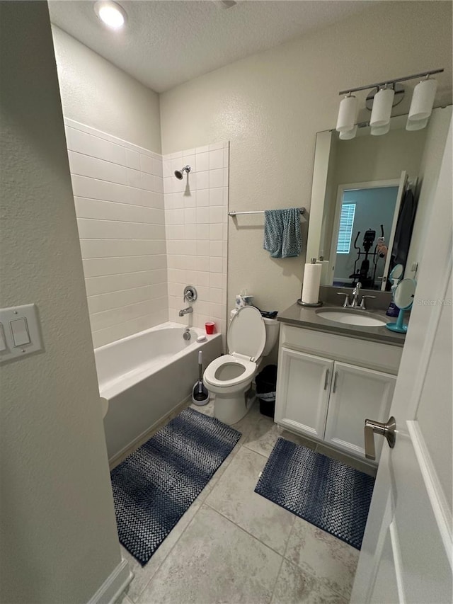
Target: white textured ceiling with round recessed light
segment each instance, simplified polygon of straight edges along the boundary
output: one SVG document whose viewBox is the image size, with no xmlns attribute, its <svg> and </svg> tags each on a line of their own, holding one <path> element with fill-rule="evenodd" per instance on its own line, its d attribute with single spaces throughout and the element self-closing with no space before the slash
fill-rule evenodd
<svg viewBox="0 0 453 604">
<path fill-rule="evenodd" d="M 101 23 L 91 0 L 50 0 L 50 18 L 156 92 L 372 6 L 372 0 L 120 0 L 127 25 Z"/>
</svg>

